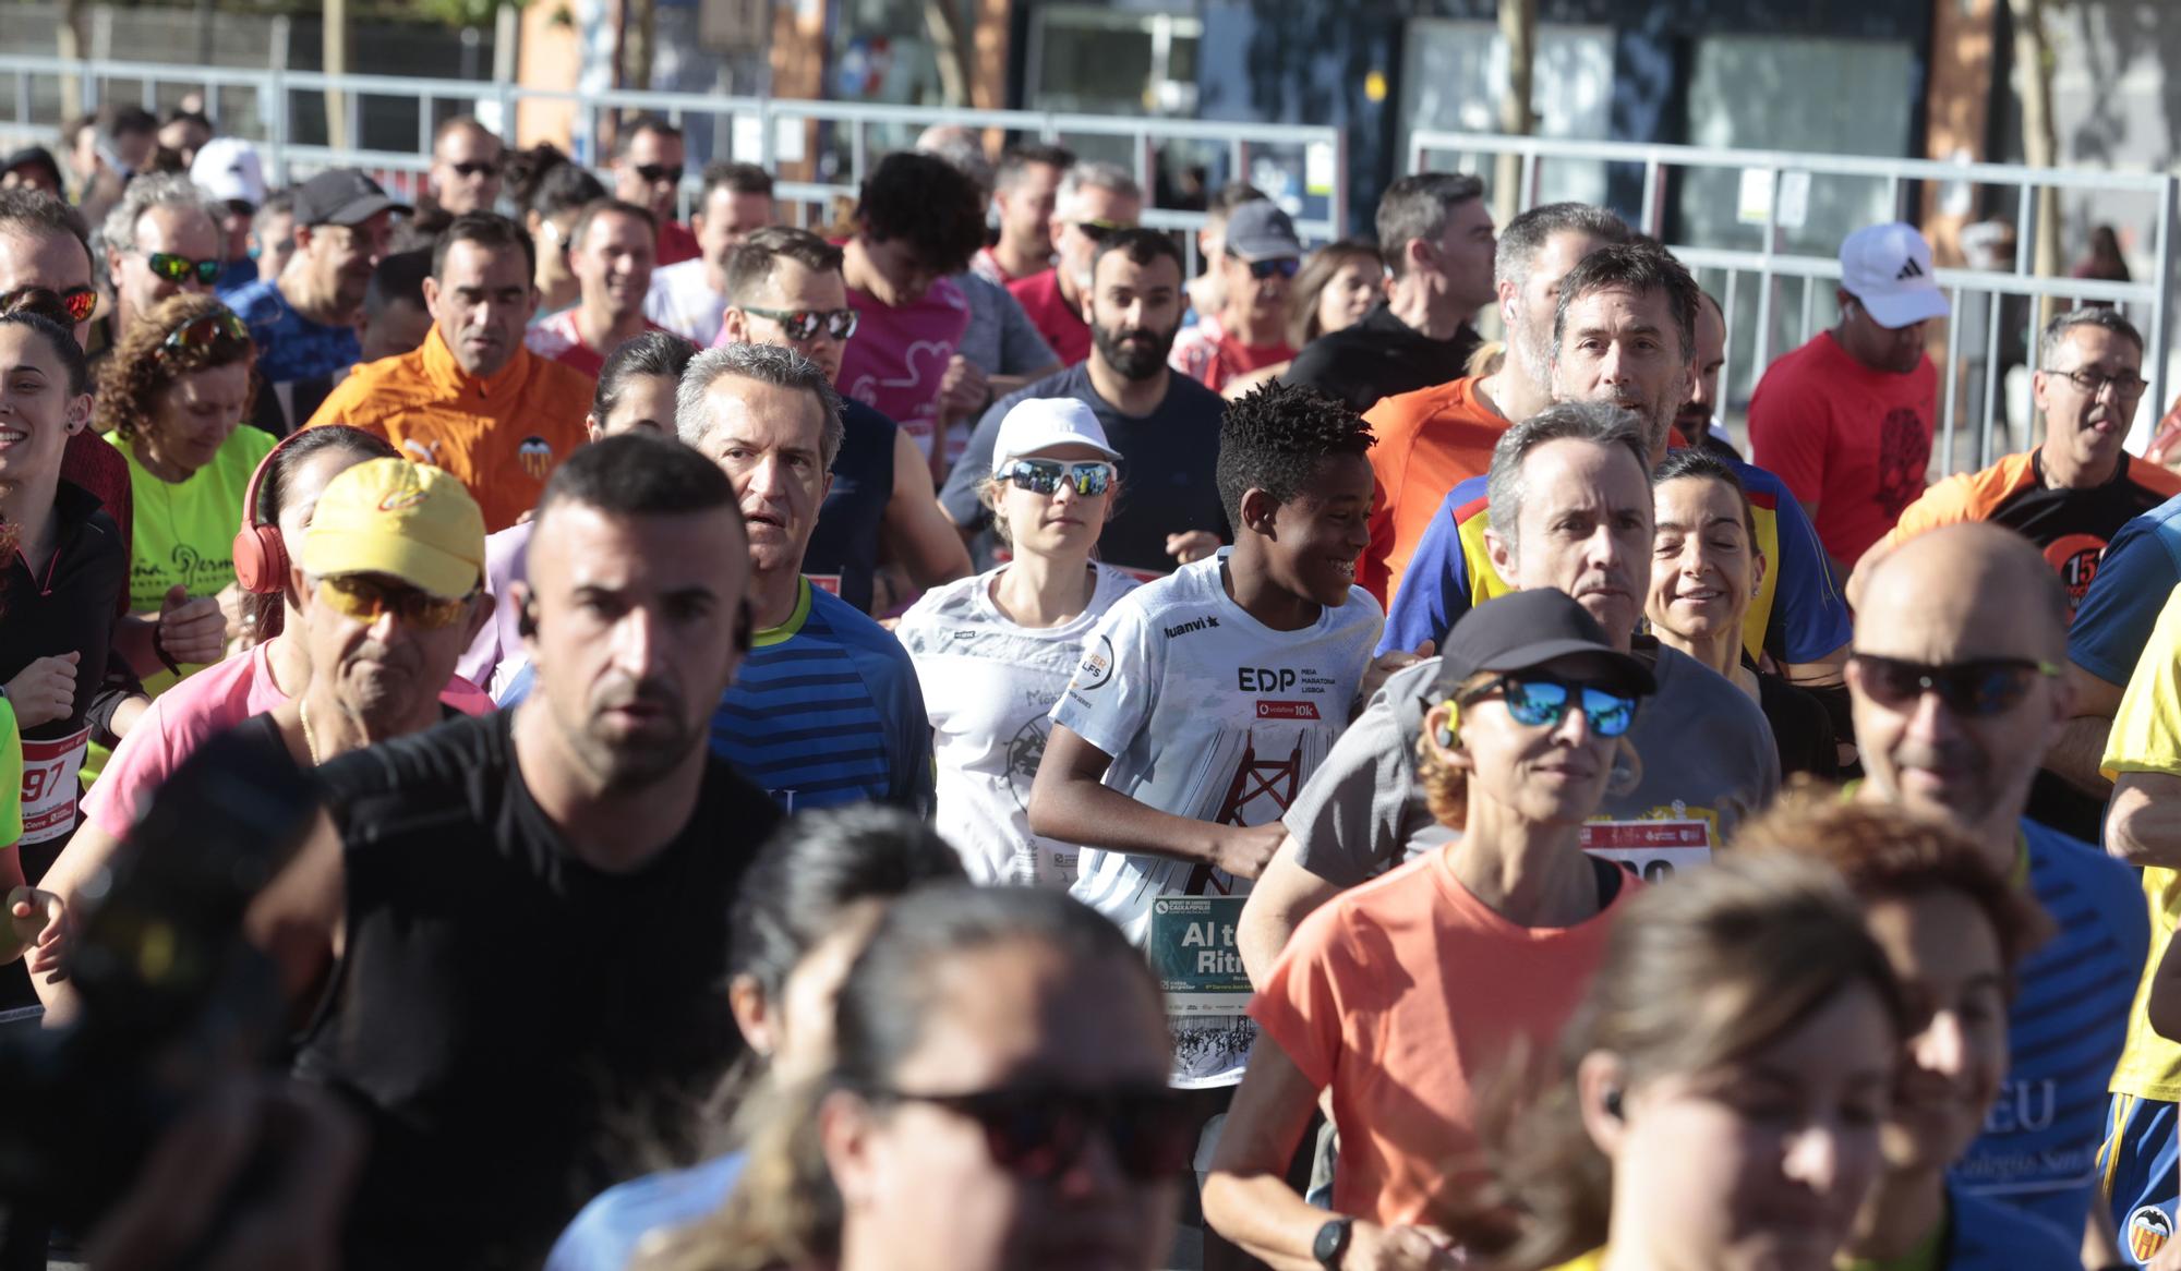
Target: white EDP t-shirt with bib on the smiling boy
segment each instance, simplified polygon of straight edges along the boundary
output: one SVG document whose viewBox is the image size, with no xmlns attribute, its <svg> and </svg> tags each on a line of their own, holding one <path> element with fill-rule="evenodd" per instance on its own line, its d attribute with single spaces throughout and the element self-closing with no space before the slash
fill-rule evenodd
<svg viewBox="0 0 2181 1271">
<path fill-rule="evenodd" d="M 1158 811 L 1237 826 L 1280 820 L 1333 750 L 1385 615 L 1359 586 L 1302 630 L 1272 630 L 1221 584 L 1228 549 L 1112 606 L 1053 722 L 1112 754 L 1106 785 Z M 1084 848 L 1075 898 L 1145 948 L 1167 992 L 1173 1084 L 1230 1086 L 1256 1027 L 1234 946 L 1248 881 Z"/>
</svg>

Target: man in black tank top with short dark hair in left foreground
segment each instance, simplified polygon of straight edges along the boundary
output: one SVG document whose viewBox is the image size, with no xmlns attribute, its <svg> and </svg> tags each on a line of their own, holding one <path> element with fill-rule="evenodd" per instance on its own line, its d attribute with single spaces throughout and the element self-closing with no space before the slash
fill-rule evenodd
<svg viewBox="0 0 2181 1271">
<path fill-rule="evenodd" d="M 253 929 L 327 972 L 297 1070 L 373 1129 L 347 1267 L 537 1267 L 735 1057 L 726 913 L 779 820 L 707 748 L 746 582 L 715 467 L 593 443 L 517 593 L 534 693 L 318 770 L 332 824 Z"/>
</svg>

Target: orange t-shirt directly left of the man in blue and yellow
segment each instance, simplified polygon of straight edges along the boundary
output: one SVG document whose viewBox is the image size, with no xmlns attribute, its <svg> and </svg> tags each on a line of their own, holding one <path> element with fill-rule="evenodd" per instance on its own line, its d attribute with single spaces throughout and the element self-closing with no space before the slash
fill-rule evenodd
<svg viewBox="0 0 2181 1271">
<path fill-rule="evenodd" d="M 1357 584 L 1378 604 L 1394 604 L 1409 556 L 1431 528 L 1446 491 L 1481 477 L 1492 467 L 1492 447 L 1507 421 L 1485 405 L 1477 377 L 1433 384 L 1415 392 L 1378 399 L 1363 412 L 1378 445 L 1370 467 L 1378 488 L 1370 508 L 1370 547 L 1357 560 Z"/>
</svg>

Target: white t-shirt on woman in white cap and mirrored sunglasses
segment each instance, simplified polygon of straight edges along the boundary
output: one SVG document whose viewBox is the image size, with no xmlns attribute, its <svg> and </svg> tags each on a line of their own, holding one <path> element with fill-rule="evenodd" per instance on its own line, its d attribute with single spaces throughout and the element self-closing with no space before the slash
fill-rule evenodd
<svg viewBox="0 0 2181 1271">
<path fill-rule="evenodd" d="M 992 604 L 1005 565 L 927 591 L 894 634 L 916 661 L 938 761 L 938 831 L 977 883 L 1069 887 L 1075 846 L 1029 833 L 1047 715 L 1106 610 L 1136 589 L 1110 565 L 1090 565 L 1090 604 L 1053 628 L 1019 626 Z"/>
</svg>

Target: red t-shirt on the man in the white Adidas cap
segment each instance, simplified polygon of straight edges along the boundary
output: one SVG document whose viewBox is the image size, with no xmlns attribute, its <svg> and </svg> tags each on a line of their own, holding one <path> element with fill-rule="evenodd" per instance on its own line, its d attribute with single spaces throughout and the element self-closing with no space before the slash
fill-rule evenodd
<svg viewBox="0 0 2181 1271">
<path fill-rule="evenodd" d="M 1854 565 L 1924 495 L 1939 373 L 1897 375 L 1847 355 L 1832 331 L 1780 358 L 1749 397 L 1749 462 L 1817 504 L 1817 536 Z"/>
</svg>

